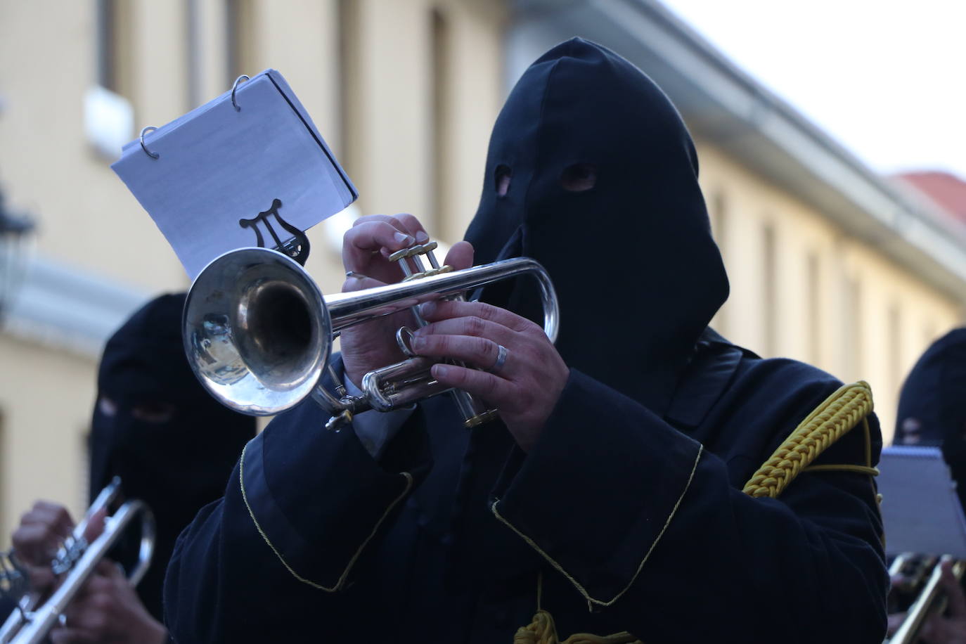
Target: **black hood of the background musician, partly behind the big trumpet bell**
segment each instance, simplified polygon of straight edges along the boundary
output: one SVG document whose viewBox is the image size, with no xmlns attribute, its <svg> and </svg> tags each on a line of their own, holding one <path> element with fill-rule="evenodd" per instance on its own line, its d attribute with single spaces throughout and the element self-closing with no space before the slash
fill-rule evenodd
<svg viewBox="0 0 966 644">
<path fill-rule="evenodd" d="M 137 593 L 158 620 L 178 534 L 224 493 L 226 476 L 255 435 L 254 418 L 217 403 L 191 373 L 184 307 L 185 294 L 160 295 L 107 341 L 91 424 L 91 500 L 120 476 L 125 497 L 141 499 L 155 515 L 153 563 Z"/>
</svg>

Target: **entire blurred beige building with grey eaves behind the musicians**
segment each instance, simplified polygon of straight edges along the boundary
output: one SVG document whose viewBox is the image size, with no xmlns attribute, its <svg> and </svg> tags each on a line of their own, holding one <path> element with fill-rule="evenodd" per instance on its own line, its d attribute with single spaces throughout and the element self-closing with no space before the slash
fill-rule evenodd
<svg viewBox="0 0 966 644">
<path fill-rule="evenodd" d="M 358 213 L 409 211 L 432 235 L 461 237 L 502 99 L 573 35 L 637 63 L 692 127 L 731 278 L 716 325 L 763 355 L 867 379 L 891 435 L 901 378 L 961 321 L 966 236 L 654 1 L 0 0 L 0 189 L 39 223 L 0 333 L 0 547 L 37 497 L 82 511 L 102 343 L 152 294 L 187 287 L 109 169 L 112 142 L 241 73 L 281 70 L 360 193 L 309 233 L 307 268 L 331 293 Z"/>
</svg>

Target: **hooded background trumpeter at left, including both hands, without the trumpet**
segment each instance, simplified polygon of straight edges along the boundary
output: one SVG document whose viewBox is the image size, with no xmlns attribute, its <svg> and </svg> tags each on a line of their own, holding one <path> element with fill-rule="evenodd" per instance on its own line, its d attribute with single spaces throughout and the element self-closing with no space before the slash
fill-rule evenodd
<svg viewBox="0 0 966 644">
<path fill-rule="evenodd" d="M 175 540 L 224 493 L 225 478 L 255 434 L 253 418 L 219 405 L 191 373 L 182 345 L 184 305 L 185 294 L 156 297 L 107 341 L 91 427 L 91 499 L 120 476 L 122 496 L 148 504 L 156 519 L 151 565 L 132 591 L 116 567 L 102 562 L 68 605 L 66 623 L 51 631 L 54 644 L 168 641 L 161 587 Z M 44 501 L 21 519 L 14 546 L 36 584 L 53 582 L 49 552 L 72 527 L 66 509 Z M 139 544 L 132 526 L 109 556 L 129 570 Z"/>
</svg>

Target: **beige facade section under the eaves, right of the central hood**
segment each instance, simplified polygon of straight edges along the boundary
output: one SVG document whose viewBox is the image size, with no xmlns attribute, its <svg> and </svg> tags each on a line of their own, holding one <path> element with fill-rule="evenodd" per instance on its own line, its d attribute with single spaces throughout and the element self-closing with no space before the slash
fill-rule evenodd
<svg viewBox="0 0 966 644">
<path fill-rule="evenodd" d="M 731 282 L 715 327 L 761 355 L 867 380 L 891 437 L 903 378 L 933 340 L 961 323 L 960 300 L 720 149 L 700 145 L 698 156 Z"/>
</svg>

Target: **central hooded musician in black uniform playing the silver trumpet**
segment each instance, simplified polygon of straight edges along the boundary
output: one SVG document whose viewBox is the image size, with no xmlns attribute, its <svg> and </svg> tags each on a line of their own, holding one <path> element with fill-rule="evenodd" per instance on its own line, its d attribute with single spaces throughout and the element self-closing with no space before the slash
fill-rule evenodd
<svg viewBox="0 0 966 644">
<path fill-rule="evenodd" d="M 425 238 L 411 216 L 357 225 L 347 267 L 377 278 L 354 264 L 379 261 L 378 244 L 354 247 L 363 230 L 388 250 Z M 499 422 L 465 430 L 440 397 L 380 446 L 360 419 L 326 433 L 311 404 L 274 420 L 180 538 L 165 587 L 178 641 L 510 642 L 538 607 L 561 640 L 881 641 L 875 417 L 816 461 L 853 471 L 742 491 L 840 383 L 707 327 L 725 269 L 660 89 L 593 43 L 554 47 L 497 119 L 467 239 L 477 263 L 547 267 L 556 351 L 525 320 L 530 287 L 497 285 L 491 304 L 426 312 L 417 349 L 489 369 L 434 375 Z M 365 349 L 344 335 L 343 350 L 355 378 Z"/>
</svg>

